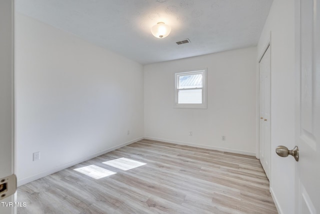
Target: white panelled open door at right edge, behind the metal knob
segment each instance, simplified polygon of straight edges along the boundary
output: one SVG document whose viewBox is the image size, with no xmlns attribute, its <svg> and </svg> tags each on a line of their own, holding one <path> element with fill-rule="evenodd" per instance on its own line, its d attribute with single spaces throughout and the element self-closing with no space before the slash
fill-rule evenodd
<svg viewBox="0 0 320 214">
<path fill-rule="evenodd" d="M 296 213 L 320 213 L 320 0 L 296 0 L 295 17 Z"/>
</svg>

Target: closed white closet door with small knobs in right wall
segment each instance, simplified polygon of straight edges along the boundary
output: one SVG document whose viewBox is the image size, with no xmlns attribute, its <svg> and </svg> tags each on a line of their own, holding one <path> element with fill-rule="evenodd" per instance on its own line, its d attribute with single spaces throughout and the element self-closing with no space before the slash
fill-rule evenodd
<svg viewBox="0 0 320 214">
<path fill-rule="evenodd" d="M 269 178 L 270 174 L 270 47 L 259 62 L 259 159 Z"/>
</svg>

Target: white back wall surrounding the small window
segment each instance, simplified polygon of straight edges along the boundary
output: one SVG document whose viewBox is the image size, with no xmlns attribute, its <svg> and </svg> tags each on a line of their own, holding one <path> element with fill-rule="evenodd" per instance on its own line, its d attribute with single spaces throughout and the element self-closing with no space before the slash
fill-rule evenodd
<svg viewBox="0 0 320 214">
<path fill-rule="evenodd" d="M 255 155 L 255 59 L 256 48 L 246 48 L 144 66 L 144 136 Z M 173 108 L 174 73 L 203 68 L 207 109 Z"/>
</svg>

